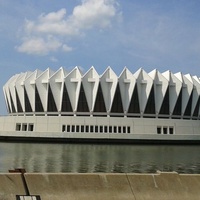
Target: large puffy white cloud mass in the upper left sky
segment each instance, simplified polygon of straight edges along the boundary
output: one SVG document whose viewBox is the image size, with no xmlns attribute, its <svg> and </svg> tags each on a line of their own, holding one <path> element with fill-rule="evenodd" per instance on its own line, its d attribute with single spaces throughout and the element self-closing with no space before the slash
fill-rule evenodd
<svg viewBox="0 0 200 200">
<path fill-rule="evenodd" d="M 67 15 L 66 9 L 62 8 L 57 12 L 43 13 L 35 21 L 26 20 L 22 44 L 16 49 L 38 55 L 46 55 L 58 49 L 72 51 L 65 41 L 89 29 L 110 27 L 118 15 L 116 6 L 115 0 L 82 0 L 80 5 L 74 7 L 71 15 Z"/>
</svg>

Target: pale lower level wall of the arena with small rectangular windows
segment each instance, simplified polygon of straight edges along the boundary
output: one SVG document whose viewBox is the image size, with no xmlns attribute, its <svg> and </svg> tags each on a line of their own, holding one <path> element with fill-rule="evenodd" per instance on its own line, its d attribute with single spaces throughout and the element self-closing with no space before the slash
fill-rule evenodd
<svg viewBox="0 0 200 200">
<path fill-rule="evenodd" d="M 200 121 L 159 118 L 6 116 L 1 136 L 199 140 Z"/>
</svg>

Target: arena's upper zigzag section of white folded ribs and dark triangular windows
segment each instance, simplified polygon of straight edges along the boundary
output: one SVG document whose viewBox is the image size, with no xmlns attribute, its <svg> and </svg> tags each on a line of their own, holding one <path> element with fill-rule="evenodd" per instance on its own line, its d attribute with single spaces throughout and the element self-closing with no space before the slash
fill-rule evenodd
<svg viewBox="0 0 200 200">
<path fill-rule="evenodd" d="M 199 119 L 199 78 L 170 71 L 35 70 L 14 75 L 3 90 L 10 115 Z"/>
</svg>

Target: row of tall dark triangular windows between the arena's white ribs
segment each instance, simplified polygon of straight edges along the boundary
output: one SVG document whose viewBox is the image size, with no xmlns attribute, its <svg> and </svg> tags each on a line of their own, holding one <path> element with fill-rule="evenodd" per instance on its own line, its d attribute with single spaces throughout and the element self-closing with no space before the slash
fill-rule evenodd
<svg viewBox="0 0 200 200">
<path fill-rule="evenodd" d="M 148 101 L 146 104 L 146 107 L 144 109 L 144 114 L 149 115 L 155 115 L 156 114 L 156 101 L 155 101 L 155 91 L 154 87 L 152 86 L 150 95 L 148 97 Z M 8 96 L 10 96 L 10 104 L 8 103 L 8 110 L 9 113 L 22 113 L 22 112 L 44 112 L 46 108 L 43 107 L 42 101 L 38 92 L 38 88 L 35 86 L 35 107 L 32 108 L 30 104 L 30 99 L 28 97 L 26 88 L 24 88 L 24 103 L 25 103 L 25 111 L 22 108 L 22 104 L 19 99 L 19 95 L 17 90 L 15 90 L 16 93 L 16 107 L 14 105 L 14 99 L 12 98 L 11 93 L 9 92 L 6 94 L 6 101 L 8 101 Z M 198 117 L 199 116 L 199 107 L 200 107 L 200 97 L 198 98 L 198 101 L 195 103 L 195 105 L 192 105 L 193 102 L 193 94 L 190 95 L 190 98 L 187 102 L 187 106 L 185 111 L 182 110 L 182 101 L 183 101 L 183 94 L 182 90 L 179 93 L 179 96 L 177 98 L 174 111 L 172 112 L 172 115 L 174 116 L 185 116 L 185 117 Z M 54 95 L 52 93 L 52 89 L 50 85 L 48 85 L 48 98 L 47 98 L 47 112 L 58 112 L 58 108 L 55 103 Z M 94 104 L 94 113 L 106 113 L 106 104 L 105 99 L 103 96 L 103 91 L 101 88 L 101 84 L 99 84 L 97 96 Z M 192 107 L 195 109 L 192 110 Z M 129 114 L 138 114 L 140 115 L 140 102 L 139 102 L 139 91 L 137 85 L 135 85 L 135 88 L 133 89 L 132 98 L 130 100 L 129 108 L 127 109 L 127 113 Z M 69 94 L 67 91 L 66 85 L 64 85 L 63 89 L 63 96 L 62 96 L 62 106 L 61 106 L 61 112 L 73 112 L 72 109 L 72 102 L 70 101 Z M 89 107 L 84 91 L 84 87 L 81 84 L 80 93 L 78 97 L 78 104 L 77 104 L 77 112 L 83 112 L 83 113 L 89 113 Z M 118 114 L 124 114 L 124 108 L 121 98 L 121 91 L 119 84 L 116 87 L 113 104 L 111 106 L 110 115 L 112 116 L 113 113 Z M 170 87 L 168 87 L 166 94 L 163 98 L 163 102 L 159 111 L 159 115 L 170 115 Z"/>
</svg>

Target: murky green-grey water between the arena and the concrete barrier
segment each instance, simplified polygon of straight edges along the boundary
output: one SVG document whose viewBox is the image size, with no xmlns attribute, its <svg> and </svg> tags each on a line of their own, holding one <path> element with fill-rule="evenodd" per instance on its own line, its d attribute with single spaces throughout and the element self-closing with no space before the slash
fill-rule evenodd
<svg viewBox="0 0 200 200">
<path fill-rule="evenodd" d="M 200 146 L 0 143 L 0 172 L 200 173 Z"/>
</svg>

